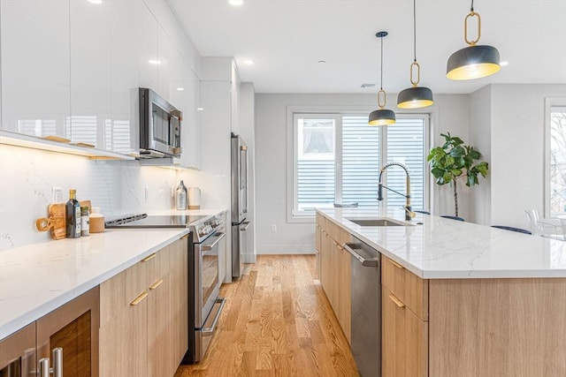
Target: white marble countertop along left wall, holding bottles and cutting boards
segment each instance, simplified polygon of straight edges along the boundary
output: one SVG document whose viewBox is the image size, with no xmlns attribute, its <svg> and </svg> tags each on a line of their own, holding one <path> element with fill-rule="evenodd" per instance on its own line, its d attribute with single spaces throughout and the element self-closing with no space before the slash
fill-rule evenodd
<svg viewBox="0 0 566 377">
<path fill-rule="evenodd" d="M 0 252 L 0 340 L 188 232 L 105 230 Z"/>
</svg>

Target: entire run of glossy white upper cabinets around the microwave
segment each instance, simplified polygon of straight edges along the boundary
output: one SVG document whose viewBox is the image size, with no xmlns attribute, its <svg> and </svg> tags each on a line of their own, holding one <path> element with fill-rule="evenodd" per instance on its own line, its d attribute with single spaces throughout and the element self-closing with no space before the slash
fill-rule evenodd
<svg viewBox="0 0 566 377">
<path fill-rule="evenodd" d="M 164 2 L 150 5 L 0 0 L 0 128 L 129 155 L 139 147 L 137 89 L 149 87 L 183 111 L 176 162 L 199 169 L 200 81 L 180 53 L 190 42 Z"/>
</svg>

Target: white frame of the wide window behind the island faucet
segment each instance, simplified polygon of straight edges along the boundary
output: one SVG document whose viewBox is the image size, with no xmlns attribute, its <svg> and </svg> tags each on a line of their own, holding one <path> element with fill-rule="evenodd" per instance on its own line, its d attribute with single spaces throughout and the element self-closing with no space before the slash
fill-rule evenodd
<svg viewBox="0 0 566 377">
<path fill-rule="evenodd" d="M 317 117 L 328 117 L 335 119 L 335 132 L 334 140 L 336 142 L 335 156 L 342 155 L 342 117 L 344 116 L 359 116 L 361 114 L 369 114 L 372 109 L 368 109 L 365 106 L 287 106 L 287 222 L 315 222 L 315 214 L 305 215 L 304 212 L 297 213 L 295 211 L 295 203 L 297 201 L 297 190 L 295 185 L 298 179 L 297 174 L 297 163 L 298 163 L 298 132 L 295 131 L 295 119 L 297 115 L 309 116 L 310 118 Z M 403 111 L 395 112 L 397 117 L 410 118 L 410 117 L 423 117 L 424 119 L 424 153 L 429 150 L 432 145 L 432 124 L 433 118 L 435 117 L 434 112 L 424 112 L 424 111 Z M 309 118 L 307 117 L 307 118 Z M 380 139 L 382 136 L 386 135 L 385 127 L 380 127 Z M 380 145 L 380 155 L 386 155 L 386 143 Z M 427 170 L 426 155 L 424 155 L 424 207 L 432 207 L 432 186 L 430 173 Z M 334 162 L 334 169 L 338 171 L 341 169 L 341 160 Z M 341 196 L 341 182 L 339 179 L 335 178 L 336 182 L 336 196 Z M 386 200 L 384 200 L 386 201 Z M 386 202 L 384 203 L 386 205 Z"/>
</svg>

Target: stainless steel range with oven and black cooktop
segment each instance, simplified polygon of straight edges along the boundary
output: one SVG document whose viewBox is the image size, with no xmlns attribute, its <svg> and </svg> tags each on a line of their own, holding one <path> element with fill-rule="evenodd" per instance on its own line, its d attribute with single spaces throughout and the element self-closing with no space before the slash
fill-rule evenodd
<svg viewBox="0 0 566 377">
<path fill-rule="evenodd" d="M 185 228 L 188 243 L 188 350 L 183 364 L 201 361 L 225 300 L 220 298 L 219 253 L 226 251 L 226 212 L 214 216 L 129 215 L 105 222 L 106 228 Z M 0 376 L 1 377 L 1 376 Z"/>
</svg>

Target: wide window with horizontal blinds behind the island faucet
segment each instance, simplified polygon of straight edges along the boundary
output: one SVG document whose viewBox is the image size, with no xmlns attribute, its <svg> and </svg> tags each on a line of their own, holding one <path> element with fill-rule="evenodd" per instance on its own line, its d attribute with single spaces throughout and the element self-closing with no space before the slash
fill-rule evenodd
<svg viewBox="0 0 566 377">
<path fill-rule="evenodd" d="M 411 205 L 428 207 L 424 187 L 428 115 L 397 115 L 386 127 L 367 124 L 367 114 L 293 113 L 293 208 L 289 220 L 310 218 L 316 207 L 333 203 L 379 205 L 379 170 L 386 162 L 402 162 L 411 179 Z M 383 184 L 405 192 L 406 174 L 392 167 Z M 405 198 L 384 190 L 385 205 L 402 207 Z"/>
</svg>

